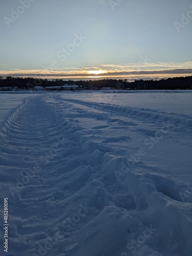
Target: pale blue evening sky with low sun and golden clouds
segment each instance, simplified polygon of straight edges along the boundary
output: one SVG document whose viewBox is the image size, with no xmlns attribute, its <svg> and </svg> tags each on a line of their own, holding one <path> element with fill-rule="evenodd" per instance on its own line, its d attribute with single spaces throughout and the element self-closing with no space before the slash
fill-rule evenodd
<svg viewBox="0 0 192 256">
<path fill-rule="evenodd" d="M 0 0 L 0 75 L 192 74 L 192 0 Z"/>
</svg>

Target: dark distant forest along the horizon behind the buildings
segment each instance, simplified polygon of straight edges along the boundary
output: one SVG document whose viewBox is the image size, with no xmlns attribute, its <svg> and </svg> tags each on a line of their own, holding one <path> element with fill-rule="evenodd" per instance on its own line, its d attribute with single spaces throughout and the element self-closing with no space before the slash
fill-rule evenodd
<svg viewBox="0 0 192 256">
<path fill-rule="evenodd" d="M 41 78 L 22 78 L 7 76 L 0 77 L 0 87 L 17 87 L 19 89 L 33 89 L 35 86 L 63 86 L 63 84 L 76 84 L 84 89 L 101 89 L 108 87 L 112 89 L 131 89 L 131 90 L 187 90 L 192 88 L 192 76 L 174 77 L 161 80 L 136 79 L 133 82 L 127 79 L 101 79 L 101 80 L 63 80 L 63 79 L 41 79 Z"/>
</svg>

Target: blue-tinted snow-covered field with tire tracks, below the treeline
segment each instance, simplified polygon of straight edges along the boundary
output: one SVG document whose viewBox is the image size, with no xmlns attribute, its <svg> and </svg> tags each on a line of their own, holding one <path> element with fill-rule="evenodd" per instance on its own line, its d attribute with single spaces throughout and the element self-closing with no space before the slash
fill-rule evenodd
<svg viewBox="0 0 192 256">
<path fill-rule="evenodd" d="M 1 93 L 1 255 L 191 255 L 191 110 L 187 91 Z"/>
</svg>

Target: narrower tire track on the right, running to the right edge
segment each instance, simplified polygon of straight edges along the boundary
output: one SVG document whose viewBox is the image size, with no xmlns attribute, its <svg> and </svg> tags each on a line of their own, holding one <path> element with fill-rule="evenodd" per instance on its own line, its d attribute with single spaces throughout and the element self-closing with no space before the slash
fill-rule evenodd
<svg viewBox="0 0 192 256">
<path fill-rule="evenodd" d="M 62 97 L 61 97 L 62 98 Z M 105 112 L 108 116 L 121 116 L 132 119 L 131 122 L 126 122 L 121 119 L 118 120 L 119 123 L 133 126 L 133 129 L 137 131 L 137 126 L 140 123 L 150 123 L 151 125 L 169 125 L 170 130 L 175 132 L 181 131 L 192 131 L 192 118 L 190 116 L 184 114 L 176 114 L 176 113 L 166 113 L 163 111 L 151 110 L 151 109 L 143 109 L 143 108 L 133 108 L 133 107 L 124 107 L 117 106 L 106 103 L 97 103 L 97 102 L 85 102 L 77 99 L 65 99 L 65 101 L 86 106 L 90 109 L 94 109 L 94 113 L 98 111 Z M 89 114 L 90 116 L 90 114 Z M 109 122 L 110 122 L 110 118 Z M 113 122 L 113 119 L 111 120 Z"/>
</svg>

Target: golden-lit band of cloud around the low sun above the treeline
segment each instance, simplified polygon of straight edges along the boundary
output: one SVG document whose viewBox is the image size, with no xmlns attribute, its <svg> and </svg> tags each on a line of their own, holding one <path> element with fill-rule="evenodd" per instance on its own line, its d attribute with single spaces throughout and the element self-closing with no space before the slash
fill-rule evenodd
<svg viewBox="0 0 192 256">
<path fill-rule="evenodd" d="M 91 73 L 91 71 L 95 71 Z M 103 72 L 96 72 L 103 71 Z M 100 75 L 99 75 L 99 74 Z M 192 61 L 188 62 L 138 62 L 120 65 L 100 65 L 99 67 L 61 68 L 41 70 L 0 71 L 1 76 L 41 77 L 41 78 L 144 78 L 144 77 L 173 77 L 192 75 Z"/>
</svg>

